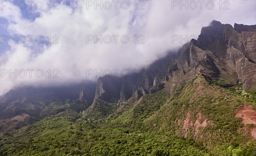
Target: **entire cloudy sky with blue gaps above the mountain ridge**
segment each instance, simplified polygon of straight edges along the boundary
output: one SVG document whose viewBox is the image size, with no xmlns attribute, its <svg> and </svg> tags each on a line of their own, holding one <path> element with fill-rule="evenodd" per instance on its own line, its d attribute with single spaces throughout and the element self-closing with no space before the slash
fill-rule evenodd
<svg viewBox="0 0 256 156">
<path fill-rule="evenodd" d="M 251 0 L 97 4 L 38 0 L 32 9 L 24 2 L 26 9 L 20 9 L 21 3 L 15 9 L 1 2 L 5 31 L 1 31 L 0 95 L 22 85 L 62 85 L 95 80 L 95 72 L 99 77 L 109 71 L 114 75 L 117 69 L 141 69 L 198 37 L 212 19 L 256 24 L 256 2 Z M 3 47 L 6 43 L 8 48 Z"/>
</svg>

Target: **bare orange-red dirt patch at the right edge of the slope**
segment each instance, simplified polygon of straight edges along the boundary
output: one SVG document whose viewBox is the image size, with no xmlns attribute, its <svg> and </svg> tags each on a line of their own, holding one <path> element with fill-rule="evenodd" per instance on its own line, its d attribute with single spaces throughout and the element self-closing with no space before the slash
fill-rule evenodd
<svg viewBox="0 0 256 156">
<path fill-rule="evenodd" d="M 244 104 L 244 107 L 242 107 L 240 110 L 237 111 L 235 117 L 242 118 L 242 122 L 244 124 L 244 127 L 246 124 L 254 124 L 256 125 L 256 110 L 253 110 L 250 106 Z M 246 129 L 246 127 L 245 127 Z M 249 128 L 250 135 L 256 139 L 256 127 Z"/>
</svg>

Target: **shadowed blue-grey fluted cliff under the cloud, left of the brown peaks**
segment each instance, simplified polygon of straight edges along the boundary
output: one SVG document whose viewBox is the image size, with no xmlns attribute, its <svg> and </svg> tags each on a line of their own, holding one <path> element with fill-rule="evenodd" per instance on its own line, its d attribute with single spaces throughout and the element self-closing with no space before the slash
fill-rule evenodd
<svg viewBox="0 0 256 156">
<path fill-rule="evenodd" d="M 170 53 L 165 58 L 155 61 L 137 72 L 129 71 L 125 77 L 101 77 L 98 79 L 95 99 L 113 102 L 116 100 L 126 101 L 134 93 L 140 91 L 150 92 L 153 86 L 165 83 L 168 80 L 168 67 L 172 60 L 177 57 Z"/>
</svg>

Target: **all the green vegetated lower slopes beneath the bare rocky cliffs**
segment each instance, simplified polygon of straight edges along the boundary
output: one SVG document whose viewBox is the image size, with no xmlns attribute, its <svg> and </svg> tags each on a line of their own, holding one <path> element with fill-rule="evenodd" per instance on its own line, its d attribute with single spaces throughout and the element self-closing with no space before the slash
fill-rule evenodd
<svg viewBox="0 0 256 156">
<path fill-rule="evenodd" d="M 111 114 L 102 118 L 101 110 L 97 117 L 66 110 L 3 136 L 0 155 L 256 155 L 255 140 L 245 135 L 241 118 L 234 118 L 243 104 L 256 107 L 254 96 L 213 86 L 198 75 L 173 95 L 163 89 L 140 102 L 129 101 L 118 115 L 108 110 L 103 116 Z M 190 127 L 184 139 L 189 110 L 193 123 L 201 111 L 201 121 L 207 118 L 212 124 L 199 128 L 197 135 Z"/>
</svg>

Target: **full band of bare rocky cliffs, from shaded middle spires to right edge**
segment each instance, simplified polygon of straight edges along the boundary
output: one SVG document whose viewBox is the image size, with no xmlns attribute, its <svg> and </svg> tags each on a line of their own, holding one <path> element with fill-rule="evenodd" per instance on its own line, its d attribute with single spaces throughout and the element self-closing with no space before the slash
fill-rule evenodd
<svg viewBox="0 0 256 156">
<path fill-rule="evenodd" d="M 192 39 L 175 54 L 169 54 L 143 69 L 139 77 L 99 78 L 96 98 L 126 101 L 138 94 L 140 87 L 148 93 L 169 85 L 171 94 L 182 81 L 188 82 L 201 73 L 209 82 L 225 78 L 231 83 L 241 80 L 245 90 L 256 84 L 255 26 L 222 24 L 213 20 L 201 29 L 198 40 Z"/>
</svg>

